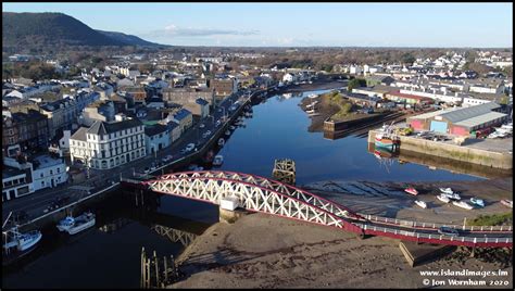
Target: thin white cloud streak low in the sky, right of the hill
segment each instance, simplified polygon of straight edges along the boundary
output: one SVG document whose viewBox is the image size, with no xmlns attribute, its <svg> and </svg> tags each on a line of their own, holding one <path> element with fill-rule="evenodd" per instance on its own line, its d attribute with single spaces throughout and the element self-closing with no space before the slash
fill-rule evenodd
<svg viewBox="0 0 515 291">
<path fill-rule="evenodd" d="M 252 36 L 259 35 L 259 30 L 234 30 L 234 29 L 213 29 L 213 28 L 196 28 L 196 27 L 178 27 L 176 25 L 168 25 L 164 29 L 151 31 L 152 36 L 179 36 L 179 37 L 206 37 L 206 36 Z"/>
</svg>

